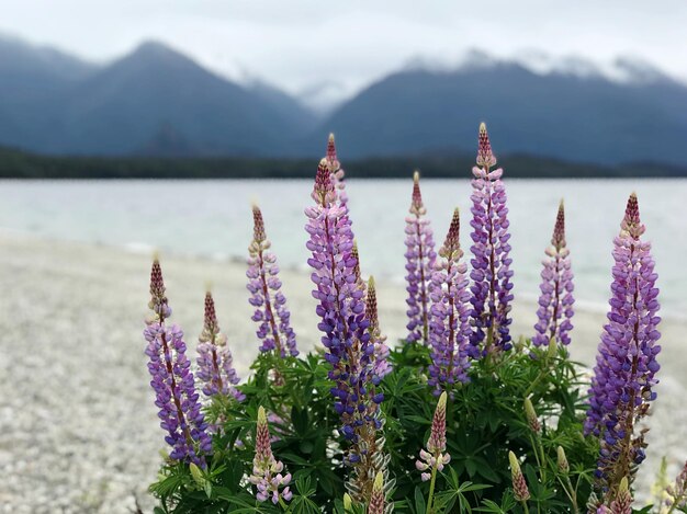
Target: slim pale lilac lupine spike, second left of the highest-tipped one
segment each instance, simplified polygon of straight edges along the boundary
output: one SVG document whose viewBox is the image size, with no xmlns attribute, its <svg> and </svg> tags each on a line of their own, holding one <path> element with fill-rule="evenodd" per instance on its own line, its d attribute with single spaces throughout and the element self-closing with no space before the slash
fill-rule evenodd
<svg viewBox="0 0 687 514">
<path fill-rule="evenodd" d="M 431 273 L 437 253 L 432 231 L 427 218 L 427 209 L 420 193 L 420 174 L 413 175 L 413 201 L 410 216 L 406 217 L 406 290 L 408 298 L 408 335 L 406 341 L 423 341 L 429 344 L 429 294 Z"/>
</svg>

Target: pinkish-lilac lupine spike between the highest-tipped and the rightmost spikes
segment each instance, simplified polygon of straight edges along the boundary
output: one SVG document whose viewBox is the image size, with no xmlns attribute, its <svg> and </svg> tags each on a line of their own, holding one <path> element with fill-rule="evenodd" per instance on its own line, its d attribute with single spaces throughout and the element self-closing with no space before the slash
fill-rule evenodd
<svg viewBox="0 0 687 514">
<path fill-rule="evenodd" d="M 551 339 L 562 344 L 570 344 L 570 331 L 573 329 L 573 272 L 571 270 L 570 250 L 565 244 L 565 212 L 563 201 L 551 238 L 551 247 L 545 250 L 541 272 L 541 296 L 534 325 L 537 333 L 532 343 L 537 346 L 548 345 Z"/>
</svg>

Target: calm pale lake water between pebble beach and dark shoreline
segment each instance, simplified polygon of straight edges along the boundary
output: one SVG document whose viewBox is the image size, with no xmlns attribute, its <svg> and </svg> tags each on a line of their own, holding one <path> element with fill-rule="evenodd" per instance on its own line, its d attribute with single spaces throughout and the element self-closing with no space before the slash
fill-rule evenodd
<svg viewBox="0 0 687 514">
<path fill-rule="evenodd" d="M 409 180 L 348 181 L 363 273 L 403 279 L 410 189 Z M 282 265 L 303 266 L 307 258 L 303 208 L 312 202 L 311 191 L 306 180 L 5 181 L 0 183 L 0 227 L 132 250 L 244 256 L 251 237 L 250 202 L 256 199 Z M 516 296 L 537 296 L 543 249 L 558 202 L 565 197 L 576 297 L 581 304 L 605 308 L 611 241 L 632 191 L 639 195 L 646 237 L 654 245 L 663 313 L 685 317 L 687 231 L 682 213 L 687 181 L 507 181 Z M 468 245 L 470 183 L 424 181 L 423 194 L 437 240 L 443 239 L 453 207 L 461 207 L 461 240 Z"/>
</svg>

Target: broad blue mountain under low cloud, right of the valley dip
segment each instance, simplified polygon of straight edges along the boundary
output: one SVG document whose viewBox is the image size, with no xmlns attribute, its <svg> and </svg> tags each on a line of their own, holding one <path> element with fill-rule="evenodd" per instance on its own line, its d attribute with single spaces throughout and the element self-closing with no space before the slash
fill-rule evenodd
<svg viewBox="0 0 687 514">
<path fill-rule="evenodd" d="M 623 62 L 642 80 L 613 81 L 575 64 L 537 73 L 515 62 L 408 69 L 370 85 L 317 130 L 346 155 L 473 151 L 484 121 L 500 153 L 612 164 L 685 163 L 687 88 Z"/>
</svg>

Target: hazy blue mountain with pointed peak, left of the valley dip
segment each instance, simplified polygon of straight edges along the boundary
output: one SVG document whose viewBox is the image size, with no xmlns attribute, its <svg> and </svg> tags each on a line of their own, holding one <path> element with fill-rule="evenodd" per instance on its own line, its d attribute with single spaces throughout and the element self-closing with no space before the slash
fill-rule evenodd
<svg viewBox="0 0 687 514">
<path fill-rule="evenodd" d="M 8 71 L 18 88 L 0 99 L 3 144 L 56 155 L 264 156 L 286 152 L 312 128 L 309 112 L 285 94 L 230 82 L 159 43 L 60 77 L 50 76 L 54 59 L 34 60 L 33 77 Z M 24 78 L 48 85 L 21 101 Z M 170 148 L 174 140 L 182 147 Z"/>
</svg>

